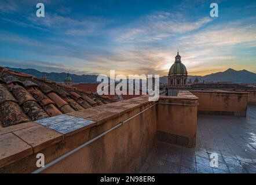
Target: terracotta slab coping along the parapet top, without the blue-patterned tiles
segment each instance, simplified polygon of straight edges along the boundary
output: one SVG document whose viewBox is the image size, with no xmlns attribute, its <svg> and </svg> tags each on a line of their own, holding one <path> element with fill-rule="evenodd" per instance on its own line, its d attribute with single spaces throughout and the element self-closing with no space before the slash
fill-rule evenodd
<svg viewBox="0 0 256 185">
<path fill-rule="evenodd" d="M 148 108 L 156 102 L 148 101 L 149 95 L 127 99 L 125 101 L 109 103 L 93 108 L 68 113 L 67 116 L 78 117 L 91 121 L 85 127 L 61 134 L 54 129 L 35 122 L 21 123 L 10 127 L 0 128 L 0 172 L 3 166 L 12 164 L 32 154 L 39 153 L 47 147 L 64 142 L 66 138 L 79 134 L 85 129 L 97 127 L 106 121 L 116 119 L 122 114 L 140 108 Z M 188 91 L 181 92 L 178 97 L 160 97 L 161 101 L 193 101 L 198 99 Z M 142 109 L 141 109 L 142 108 Z M 133 116 L 133 115 L 131 115 Z M 122 121 L 122 120 L 120 120 Z"/>
</svg>

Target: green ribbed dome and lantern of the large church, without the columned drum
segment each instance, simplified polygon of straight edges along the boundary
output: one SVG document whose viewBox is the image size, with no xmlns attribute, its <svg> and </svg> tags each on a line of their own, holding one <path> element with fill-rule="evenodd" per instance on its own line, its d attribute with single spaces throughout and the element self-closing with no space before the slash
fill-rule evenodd
<svg viewBox="0 0 256 185">
<path fill-rule="evenodd" d="M 170 76 L 173 76 L 173 75 L 181 75 L 181 76 L 188 75 L 188 72 L 186 71 L 186 66 L 184 64 L 182 64 L 181 56 L 179 54 L 177 54 L 177 56 L 175 57 L 175 62 L 169 70 L 169 75 Z"/>
</svg>

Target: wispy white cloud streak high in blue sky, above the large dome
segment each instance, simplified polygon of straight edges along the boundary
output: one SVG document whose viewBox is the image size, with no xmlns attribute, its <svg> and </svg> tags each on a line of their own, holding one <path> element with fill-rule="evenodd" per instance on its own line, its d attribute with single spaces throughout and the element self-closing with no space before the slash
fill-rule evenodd
<svg viewBox="0 0 256 185">
<path fill-rule="evenodd" d="M 195 31 L 212 20 L 203 17 L 196 21 L 188 21 L 179 13 L 156 12 L 115 30 L 112 35 L 118 42 L 152 42 L 171 38 L 175 34 Z"/>
</svg>

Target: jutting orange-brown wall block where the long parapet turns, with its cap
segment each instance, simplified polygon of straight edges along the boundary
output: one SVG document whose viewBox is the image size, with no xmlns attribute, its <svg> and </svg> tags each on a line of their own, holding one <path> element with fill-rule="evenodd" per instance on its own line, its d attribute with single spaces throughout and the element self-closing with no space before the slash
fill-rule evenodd
<svg viewBox="0 0 256 185">
<path fill-rule="evenodd" d="M 189 91 L 177 97 L 160 97 L 158 101 L 158 139 L 164 142 L 195 147 L 198 98 Z"/>
</svg>

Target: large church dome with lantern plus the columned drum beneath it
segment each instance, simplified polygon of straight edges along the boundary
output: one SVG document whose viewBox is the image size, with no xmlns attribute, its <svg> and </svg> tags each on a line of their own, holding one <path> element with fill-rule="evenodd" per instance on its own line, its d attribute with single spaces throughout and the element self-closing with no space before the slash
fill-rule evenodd
<svg viewBox="0 0 256 185">
<path fill-rule="evenodd" d="M 168 74 L 168 84 L 169 86 L 185 86 L 187 77 L 188 72 L 186 71 L 186 66 L 182 64 L 181 56 L 177 53 L 175 62 L 171 66 Z"/>
</svg>

